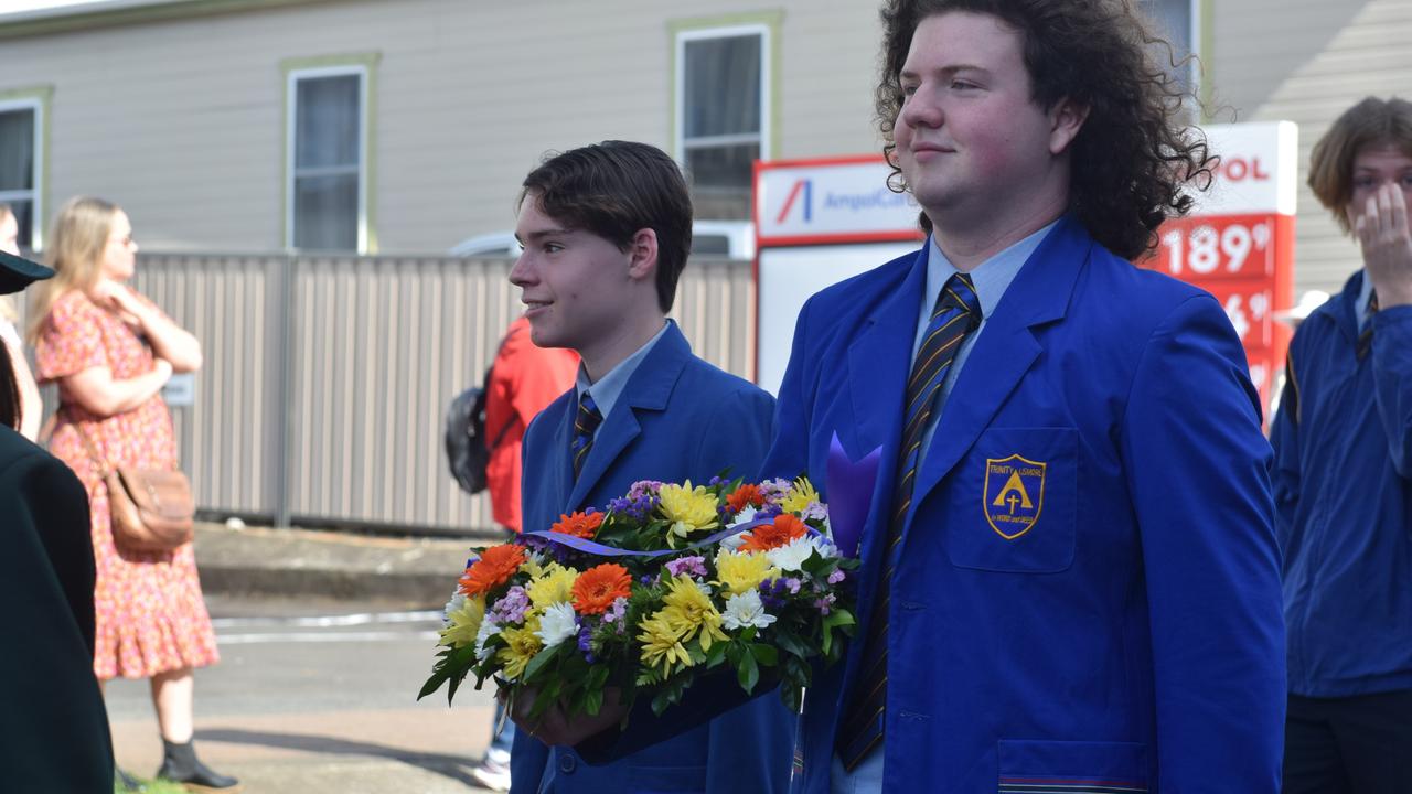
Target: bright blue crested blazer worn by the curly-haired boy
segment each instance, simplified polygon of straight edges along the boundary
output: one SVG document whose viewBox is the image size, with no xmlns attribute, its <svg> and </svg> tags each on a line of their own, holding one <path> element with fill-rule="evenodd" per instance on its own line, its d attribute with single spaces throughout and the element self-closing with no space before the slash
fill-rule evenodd
<svg viewBox="0 0 1412 794">
<path fill-rule="evenodd" d="M 764 465 L 826 487 L 834 434 L 853 458 L 881 448 L 864 623 L 925 271 L 922 250 L 809 300 Z M 1220 304 L 1062 219 L 987 319 L 918 472 L 891 585 L 882 790 L 1275 794 L 1269 462 Z M 809 691 L 810 794 L 829 791 L 860 647 Z"/>
</svg>

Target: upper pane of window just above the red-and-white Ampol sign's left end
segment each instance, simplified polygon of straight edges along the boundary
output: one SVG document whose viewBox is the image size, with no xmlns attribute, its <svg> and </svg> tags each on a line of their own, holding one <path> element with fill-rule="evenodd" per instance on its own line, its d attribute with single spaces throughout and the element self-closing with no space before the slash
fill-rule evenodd
<svg viewBox="0 0 1412 794">
<path fill-rule="evenodd" d="M 760 133 L 758 34 L 688 41 L 683 47 L 682 134 Z"/>
</svg>

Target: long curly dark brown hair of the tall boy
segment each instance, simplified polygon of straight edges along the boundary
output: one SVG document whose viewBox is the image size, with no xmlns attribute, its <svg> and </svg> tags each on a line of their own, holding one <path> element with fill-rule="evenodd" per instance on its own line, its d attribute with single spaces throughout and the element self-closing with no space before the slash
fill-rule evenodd
<svg viewBox="0 0 1412 794">
<path fill-rule="evenodd" d="M 894 191 L 905 189 L 892 138 L 902 107 L 898 73 L 918 23 L 947 11 L 990 14 L 1024 37 L 1036 106 L 1049 110 L 1067 97 L 1089 109 L 1069 147 L 1069 211 L 1108 250 L 1127 259 L 1154 250 L 1156 227 L 1192 208 L 1183 188 L 1210 186 L 1216 157 L 1206 136 L 1180 122 L 1195 97 L 1152 57 L 1154 48 L 1169 55 L 1172 48 L 1131 0 L 887 0 L 874 100 Z M 925 213 L 921 223 L 931 232 Z"/>
</svg>

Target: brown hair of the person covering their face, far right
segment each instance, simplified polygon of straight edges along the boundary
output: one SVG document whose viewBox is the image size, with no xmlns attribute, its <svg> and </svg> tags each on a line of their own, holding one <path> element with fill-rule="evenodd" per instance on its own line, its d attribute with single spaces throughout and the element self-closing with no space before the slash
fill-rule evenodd
<svg viewBox="0 0 1412 794">
<path fill-rule="evenodd" d="M 1412 157 L 1412 103 L 1370 96 L 1343 112 L 1309 155 L 1309 188 L 1344 232 L 1353 230 L 1353 161 L 1370 146 L 1395 146 Z"/>
</svg>

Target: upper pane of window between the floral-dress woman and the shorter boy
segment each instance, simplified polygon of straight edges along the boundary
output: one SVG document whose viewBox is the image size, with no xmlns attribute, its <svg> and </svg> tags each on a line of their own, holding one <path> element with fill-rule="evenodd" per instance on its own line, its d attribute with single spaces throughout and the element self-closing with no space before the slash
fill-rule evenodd
<svg viewBox="0 0 1412 794">
<path fill-rule="evenodd" d="M 357 75 L 298 81 L 295 168 L 357 165 L 359 83 Z"/>
</svg>

